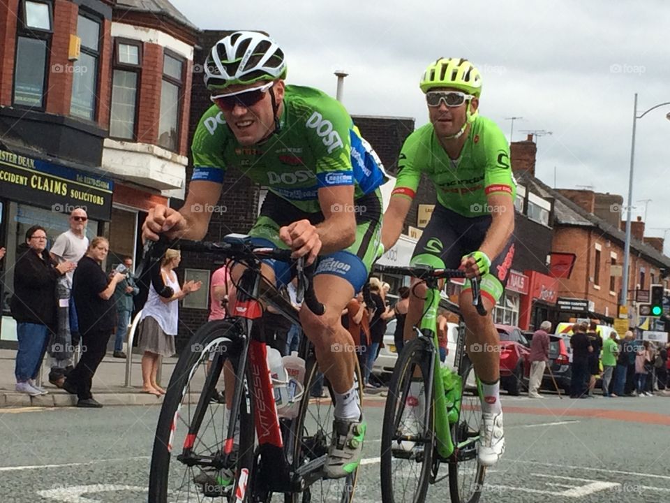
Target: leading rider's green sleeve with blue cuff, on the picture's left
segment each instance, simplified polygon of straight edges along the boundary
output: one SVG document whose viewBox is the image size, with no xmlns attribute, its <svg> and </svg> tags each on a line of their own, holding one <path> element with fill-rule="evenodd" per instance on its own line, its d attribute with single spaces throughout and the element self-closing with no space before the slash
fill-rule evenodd
<svg viewBox="0 0 670 503">
<path fill-rule="evenodd" d="M 193 155 L 193 175 L 191 181 L 223 182 L 226 170 L 223 159 L 225 145 L 225 121 L 223 113 L 216 105 L 204 112 L 193 134 L 191 154 Z"/>
</svg>

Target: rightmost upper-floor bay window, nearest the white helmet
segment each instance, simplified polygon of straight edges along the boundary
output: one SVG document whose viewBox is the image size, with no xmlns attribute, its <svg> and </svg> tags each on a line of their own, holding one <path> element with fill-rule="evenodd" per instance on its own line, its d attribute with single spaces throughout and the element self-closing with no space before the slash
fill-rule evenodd
<svg viewBox="0 0 670 503">
<path fill-rule="evenodd" d="M 158 145 L 177 151 L 179 147 L 179 117 L 181 88 L 184 82 L 184 60 L 163 55 L 161 82 L 161 119 L 158 123 Z"/>
</svg>

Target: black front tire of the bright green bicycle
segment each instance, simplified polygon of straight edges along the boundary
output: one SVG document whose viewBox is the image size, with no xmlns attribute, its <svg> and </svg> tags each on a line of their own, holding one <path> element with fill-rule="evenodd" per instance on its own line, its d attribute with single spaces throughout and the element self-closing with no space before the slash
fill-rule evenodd
<svg viewBox="0 0 670 503">
<path fill-rule="evenodd" d="M 433 460 L 433 451 L 435 448 L 435 410 L 434 410 L 434 395 L 435 390 L 431 396 L 426 395 L 428 389 L 427 384 L 433 379 L 430 372 L 431 358 L 434 358 L 434 353 L 429 348 L 429 342 L 422 338 L 413 339 L 405 342 L 403 351 L 401 351 L 396 366 L 389 384 L 389 394 L 386 400 L 384 409 L 384 419 L 382 423 L 382 446 L 381 446 L 381 462 L 380 462 L 380 479 L 382 487 L 382 503 L 401 503 L 401 502 L 424 502 L 426 499 L 426 492 L 428 491 L 429 482 L 431 479 L 431 468 Z M 413 364 L 413 365 L 412 365 Z M 418 365 L 421 370 L 421 380 L 424 389 L 424 402 L 426 404 L 426 414 L 428 414 L 427 431 L 419 432 L 419 435 L 425 437 L 424 449 L 420 454 L 417 454 L 417 459 L 413 462 L 421 463 L 419 469 L 419 479 L 417 481 L 417 488 L 412 492 L 412 499 L 406 500 L 396 497 L 394 491 L 394 484 L 401 483 L 404 476 L 395 476 L 394 467 L 399 465 L 399 459 L 396 457 L 394 461 L 393 444 L 397 443 L 394 437 L 397 435 L 397 423 L 401 420 L 403 409 L 405 408 L 406 390 L 409 388 L 409 383 L 416 382 L 416 378 L 412 377 L 414 367 Z M 409 381 L 407 380 L 409 379 Z M 418 443 L 418 442 L 417 442 Z M 412 452 L 414 449 L 412 449 Z M 397 451 L 396 451 L 397 452 Z M 412 459 L 408 459 L 411 463 Z"/>
</svg>

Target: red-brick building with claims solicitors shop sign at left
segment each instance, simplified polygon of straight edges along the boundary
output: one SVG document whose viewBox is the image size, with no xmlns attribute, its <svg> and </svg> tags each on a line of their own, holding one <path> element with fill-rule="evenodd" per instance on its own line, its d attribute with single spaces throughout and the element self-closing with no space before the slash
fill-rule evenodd
<svg viewBox="0 0 670 503">
<path fill-rule="evenodd" d="M 0 243 L 51 242 L 84 207 L 110 239 L 105 266 L 135 257 L 145 212 L 184 191 L 198 29 L 166 0 L 0 4 Z M 1 267 L 1 265 L 0 265 Z M 0 338 L 13 268 L 3 275 Z"/>
</svg>

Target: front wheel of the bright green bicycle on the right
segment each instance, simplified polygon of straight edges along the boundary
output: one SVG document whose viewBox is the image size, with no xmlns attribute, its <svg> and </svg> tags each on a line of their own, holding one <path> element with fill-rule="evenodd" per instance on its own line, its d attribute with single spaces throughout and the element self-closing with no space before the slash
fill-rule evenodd
<svg viewBox="0 0 670 503">
<path fill-rule="evenodd" d="M 419 503 L 426 499 L 435 421 L 434 393 L 428 395 L 428 390 L 432 389 L 428 384 L 433 379 L 431 358 L 434 358 L 434 353 L 429 342 L 415 339 L 405 343 L 389 384 L 382 425 L 380 471 L 383 503 Z M 419 375 L 415 377 L 415 374 Z M 417 388 L 414 392 L 419 394 L 418 397 L 410 395 L 411 384 Z M 417 398 L 418 406 L 414 403 Z"/>
</svg>

